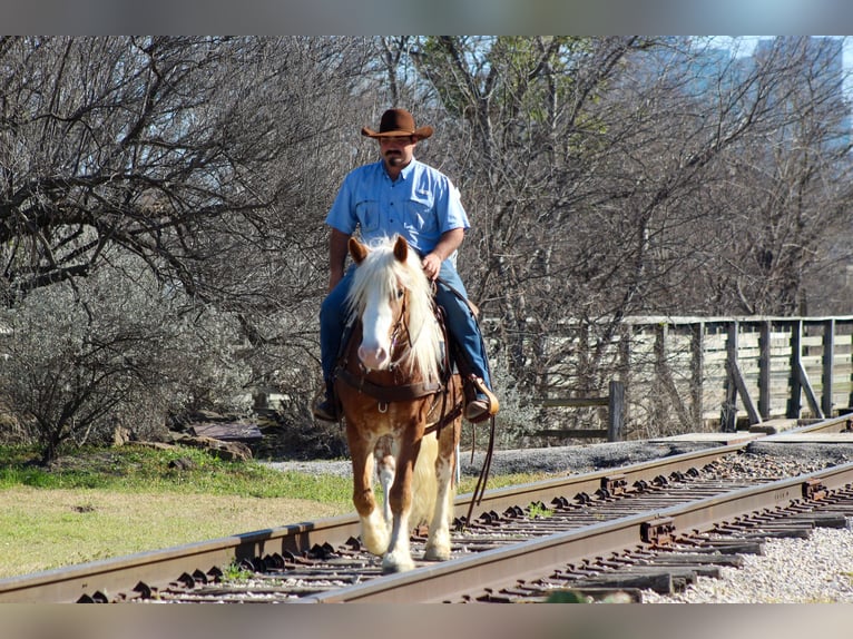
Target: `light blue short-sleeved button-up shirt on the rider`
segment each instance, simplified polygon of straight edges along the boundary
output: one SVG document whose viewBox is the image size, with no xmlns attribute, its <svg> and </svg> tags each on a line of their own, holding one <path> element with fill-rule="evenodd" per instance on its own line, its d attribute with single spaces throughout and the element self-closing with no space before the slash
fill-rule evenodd
<svg viewBox="0 0 853 639">
<path fill-rule="evenodd" d="M 326 224 L 346 235 L 360 227 L 367 244 L 400 234 L 421 255 L 430 253 L 448 230 L 470 227 L 459 189 L 450 178 L 415 159 L 394 181 L 382 161 L 352 170 Z M 449 259 L 455 264 L 455 252 Z"/>
</svg>

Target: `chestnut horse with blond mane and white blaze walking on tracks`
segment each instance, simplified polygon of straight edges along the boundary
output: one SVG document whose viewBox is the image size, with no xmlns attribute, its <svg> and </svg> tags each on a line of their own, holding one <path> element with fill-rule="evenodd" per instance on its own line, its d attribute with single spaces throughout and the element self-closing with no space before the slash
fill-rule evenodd
<svg viewBox="0 0 853 639">
<path fill-rule="evenodd" d="M 418 254 L 400 236 L 370 247 L 351 238 L 349 252 L 356 268 L 346 304 L 355 324 L 335 370 L 335 393 L 352 458 L 353 504 L 361 542 L 382 557 L 382 572 L 404 572 L 415 568 L 410 535 L 423 524 L 423 559 L 450 559 L 464 394 L 448 364 Z"/>
</svg>

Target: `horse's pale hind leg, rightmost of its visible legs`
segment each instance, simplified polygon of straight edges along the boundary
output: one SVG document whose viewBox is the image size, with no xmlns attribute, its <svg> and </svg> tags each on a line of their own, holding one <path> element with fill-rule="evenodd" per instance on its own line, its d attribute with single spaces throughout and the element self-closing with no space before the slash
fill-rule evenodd
<svg viewBox="0 0 853 639">
<path fill-rule="evenodd" d="M 453 513 L 453 495 L 455 494 L 454 472 L 457 465 L 457 443 L 461 422 L 445 425 L 439 439 L 439 454 L 435 458 L 435 510 L 430 522 L 430 534 L 423 558 L 430 561 L 447 561 L 450 559 L 450 521 Z"/>
</svg>

